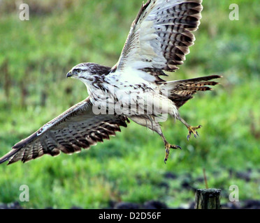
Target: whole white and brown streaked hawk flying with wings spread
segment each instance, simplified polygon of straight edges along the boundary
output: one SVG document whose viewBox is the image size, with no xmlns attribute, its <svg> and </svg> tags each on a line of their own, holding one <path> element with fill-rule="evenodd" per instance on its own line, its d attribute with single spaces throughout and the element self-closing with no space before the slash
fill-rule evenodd
<svg viewBox="0 0 260 223">
<path fill-rule="evenodd" d="M 192 31 L 201 20 L 202 0 L 148 0 L 143 3 L 131 24 L 120 59 L 113 68 L 96 63 L 80 63 L 66 77 L 79 79 L 87 86 L 88 98 L 46 123 L 38 131 L 18 142 L 0 158 L 8 164 L 21 160 L 74 153 L 109 139 L 127 127 L 129 119 L 157 132 L 165 146 L 164 162 L 170 148 L 159 121 L 169 114 L 180 120 L 192 134 L 192 127 L 180 116 L 179 108 L 193 98 L 196 91 L 212 90 L 218 84 L 211 75 L 194 79 L 165 81 L 165 72 L 174 72 L 185 61 L 194 45 Z M 122 109 L 123 107 L 123 109 Z"/>
</svg>

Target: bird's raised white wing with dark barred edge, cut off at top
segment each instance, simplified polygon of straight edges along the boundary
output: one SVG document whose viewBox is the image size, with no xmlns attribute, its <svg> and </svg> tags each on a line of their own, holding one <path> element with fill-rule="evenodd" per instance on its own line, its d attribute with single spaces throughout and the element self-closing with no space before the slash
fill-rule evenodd
<svg viewBox="0 0 260 223">
<path fill-rule="evenodd" d="M 174 71 L 194 45 L 202 0 L 149 0 L 138 13 L 114 70 L 145 70 L 147 81 Z M 152 78 L 151 78 L 152 75 Z"/>
</svg>

